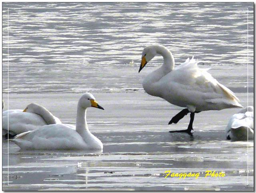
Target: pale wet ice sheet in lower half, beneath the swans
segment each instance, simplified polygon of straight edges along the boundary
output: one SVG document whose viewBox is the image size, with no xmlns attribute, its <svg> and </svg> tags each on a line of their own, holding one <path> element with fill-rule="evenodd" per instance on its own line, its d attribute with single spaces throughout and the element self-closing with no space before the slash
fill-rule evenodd
<svg viewBox="0 0 256 193">
<path fill-rule="evenodd" d="M 246 101 L 247 94 L 237 94 Z M 64 123 L 75 124 L 80 94 L 12 94 L 11 108 L 40 103 Z M 238 109 L 198 113 L 194 137 L 168 133 L 184 129 L 189 116 L 167 125 L 179 107 L 146 93 L 96 93 L 105 110 L 88 109 L 90 131 L 104 144 L 103 152 L 20 151 L 3 143 L 5 190 L 252 190 L 253 141 L 226 140 L 224 128 Z M 252 101 L 252 94 L 249 99 Z M 6 99 L 6 95 L 4 95 Z M 150 104 L 150 105 L 149 105 Z M 246 103 L 242 103 L 246 105 Z M 8 181 L 9 160 L 9 185 Z M 164 171 L 198 173 L 200 177 L 164 178 Z M 225 177 L 204 177 L 206 170 Z M 249 183 L 249 185 L 247 185 Z M 30 185 L 26 185 L 30 184 Z M 241 185 L 246 184 L 246 185 Z"/>
</svg>

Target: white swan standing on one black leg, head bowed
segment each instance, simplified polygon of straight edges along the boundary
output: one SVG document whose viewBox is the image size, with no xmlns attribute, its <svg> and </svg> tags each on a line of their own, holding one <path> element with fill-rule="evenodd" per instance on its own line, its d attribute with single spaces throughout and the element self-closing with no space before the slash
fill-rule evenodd
<svg viewBox="0 0 256 193">
<path fill-rule="evenodd" d="M 178 123 L 180 119 L 190 113 L 188 129 L 169 131 L 170 133 L 186 132 L 192 135 L 194 113 L 242 107 L 239 104 L 239 99 L 231 90 L 212 78 L 206 69 L 198 68 L 194 58 L 191 60 L 188 58 L 186 62 L 174 69 L 172 53 L 164 46 L 152 45 L 144 48 L 139 72 L 157 54 L 163 56 L 164 64 L 144 78 L 142 83 L 144 90 L 169 103 L 186 107 L 175 115 L 169 124 Z"/>
</svg>

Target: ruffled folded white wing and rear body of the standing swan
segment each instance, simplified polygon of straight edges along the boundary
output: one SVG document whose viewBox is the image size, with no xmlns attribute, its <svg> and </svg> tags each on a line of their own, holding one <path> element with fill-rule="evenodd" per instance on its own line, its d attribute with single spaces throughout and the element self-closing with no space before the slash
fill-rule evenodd
<svg viewBox="0 0 256 193">
<path fill-rule="evenodd" d="M 186 60 L 161 78 L 158 84 L 164 99 L 175 105 L 192 105 L 198 111 L 241 107 L 234 93 L 205 69 L 198 68 L 194 59 Z"/>
</svg>

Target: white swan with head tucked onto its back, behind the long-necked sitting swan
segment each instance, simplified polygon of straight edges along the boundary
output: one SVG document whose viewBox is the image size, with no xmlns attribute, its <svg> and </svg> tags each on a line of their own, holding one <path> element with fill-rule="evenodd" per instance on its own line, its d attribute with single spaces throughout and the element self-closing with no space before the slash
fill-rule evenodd
<svg viewBox="0 0 256 193">
<path fill-rule="evenodd" d="M 9 133 L 9 137 L 13 137 L 14 135 L 37 129 L 42 125 L 55 123 L 61 123 L 58 117 L 52 115 L 46 108 L 36 103 L 31 103 L 24 111 L 12 109 L 3 112 L 2 135 L 5 135 L 7 138 L 6 134 Z"/>
</svg>

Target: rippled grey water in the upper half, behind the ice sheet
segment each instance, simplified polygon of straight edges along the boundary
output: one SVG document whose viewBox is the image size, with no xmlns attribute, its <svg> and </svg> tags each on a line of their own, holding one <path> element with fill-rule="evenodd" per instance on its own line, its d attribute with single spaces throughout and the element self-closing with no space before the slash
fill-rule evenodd
<svg viewBox="0 0 256 193">
<path fill-rule="evenodd" d="M 145 74 L 163 61 L 158 57 L 137 73 L 150 44 L 167 46 L 177 65 L 194 55 L 230 88 L 247 87 L 249 65 L 253 87 L 252 3 L 3 5 L 4 93 L 8 29 L 11 93 L 140 90 Z"/>
</svg>

